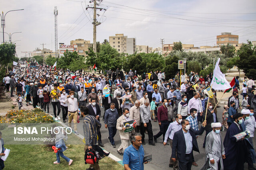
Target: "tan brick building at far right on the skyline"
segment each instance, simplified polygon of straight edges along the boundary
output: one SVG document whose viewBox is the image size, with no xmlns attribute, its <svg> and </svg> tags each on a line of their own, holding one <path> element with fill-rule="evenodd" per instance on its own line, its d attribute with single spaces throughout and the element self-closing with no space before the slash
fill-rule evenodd
<svg viewBox="0 0 256 170">
<path fill-rule="evenodd" d="M 231 33 L 221 33 L 221 35 L 217 35 L 216 37 L 217 45 L 233 45 L 236 46 L 238 44 L 238 35 L 231 35 Z"/>
</svg>

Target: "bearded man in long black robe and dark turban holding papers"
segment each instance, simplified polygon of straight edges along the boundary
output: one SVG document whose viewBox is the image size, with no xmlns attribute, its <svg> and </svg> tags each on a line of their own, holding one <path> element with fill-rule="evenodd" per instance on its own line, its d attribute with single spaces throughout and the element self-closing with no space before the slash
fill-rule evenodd
<svg viewBox="0 0 256 170">
<path fill-rule="evenodd" d="M 234 122 L 228 127 L 223 145 L 226 159 L 223 160 L 225 170 L 243 170 L 246 158 L 246 144 L 244 138 L 237 140 L 234 135 L 241 133 L 242 114 L 233 115 Z"/>
</svg>

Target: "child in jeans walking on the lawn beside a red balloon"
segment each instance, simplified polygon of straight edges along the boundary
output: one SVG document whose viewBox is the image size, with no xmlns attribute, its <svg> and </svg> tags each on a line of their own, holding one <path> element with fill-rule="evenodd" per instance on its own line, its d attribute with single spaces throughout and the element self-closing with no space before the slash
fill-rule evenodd
<svg viewBox="0 0 256 170">
<path fill-rule="evenodd" d="M 59 129 L 59 131 L 58 131 L 58 129 Z M 56 150 L 58 150 L 59 148 L 60 148 L 60 150 L 58 150 L 58 152 L 56 153 L 57 160 L 53 163 L 60 164 L 60 156 L 61 156 L 68 162 L 68 165 L 71 165 L 73 160 L 63 154 L 63 152 L 67 149 L 64 139 L 68 140 L 68 136 L 67 136 L 64 128 L 61 128 L 60 126 L 58 126 L 58 129 L 57 128 L 55 129 L 55 133 L 57 133 L 55 147 L 56 147 Z"/>
</svg>

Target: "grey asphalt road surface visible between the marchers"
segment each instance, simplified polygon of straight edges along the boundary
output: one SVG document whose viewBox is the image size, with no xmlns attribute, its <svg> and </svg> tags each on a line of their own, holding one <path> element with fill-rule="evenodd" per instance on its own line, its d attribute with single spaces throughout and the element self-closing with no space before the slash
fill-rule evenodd
<svg viewBox="0 0 256 170">
<path fill-rule="evenodd" d="M 241 96 L 240 96 L 241 97 Z M 219 107 L 217 109 L 218 113 L 217 113 L 217 117 L 218 120 L 221 122 L 222 121 L 222 111 L 223 111 L 223 105 L 220 105 L 221 107 Z M 50 114 L 53 115 L 52 112 L 52 105 L 50 105 Z M 108 152 L 114 154 L 116 157 L 120 158 L 122 160 L 122 156 L 120 156 L 117 153 L 117 149 L 121 144 L 120 141 L 120 137 L 119 137 L 119 132 L 117 131 L 114 140 L 115 140 L 115 144 L 116 144 L 116 148 L 112 148 L 111 144 L 108 143 L 108 129 L 105 129 L 104 127 L 104 122 L 102 121 L 102 116 L 104 113 L 104 108 L 101 109 L 101 117 L 100 117 L 100 122 L 102 123 L 102 127 L 100 129 L 101 131 L 101 135 L 102 135 L 102 143 L 105 145 L 104 149 L 107 150 Z M 60 112 L 60 117 L 62 117 L 62 112 Z M 82 118 L 80 118 L 80 120 L 82 120 Z M 62 119 L 60 119 L 60 121 L 62 121 Z M 68 121 L 66 121 L 65 123 L 66 125 L 68 125 Z M 199 124 L 199 128 L 201 127 L 201 124 Z M 72 123 L 72 128 L 73 128 L 73 123 Z M 159 126 L 158 126 L 158 122 L 153 122 L 152 121 L 152 130 L 153 130 L 153 134 L 155 135 L 156 133 L 159 132 Z M 80 123 L 78 123 L 78 133 L 80 133 L 81 135 L 83 135 L 83 129 L 82 129 L 82 121 L 80 121 Z M 222 141 L 224 140 L 225 134 L 226 134 L 226 130 L 225 131 L 221 131 L 220 132 L 222 135 Z M 205 160 L 205 149 L 203 149 L 202 145 L 204 143 L 204 136 L 205 136 L 205 132 L 203 133 L 203 135 L 200 135 L 197 139 L 198 142 L 198 147 L 200 150 L 200 154 L 198 152 L 194 152 L 194 158 L 196 163 L 198 164 L 198 167 L 192 166 L 192 170 L 198 170 L 200 169 L 203 164 L 204 164 L 204 160 Z M 169 168 L 169 160 L 170 160 L 170 155 L 171 155 L 171 147 L 170 145 L 166 145 L 164 147 L 164 145 L 162 144 L 162 136 L 158 138 L 158 142 L 156 143 L 156 146 L 152 146 L 152 145 L 148 145 L 148 135 L 145 134 L 145 142 L 146 145 L 144 145 L 144 151 L 145 151 L 145 156 L 152 154 L 152 161 L 149 164 L 145 164 L 144 168 L 145 170 L 167 170 L 167 169 L 173 169 L 173 168 Z M 253 140 L 254 143 L 256 143 L 256 140 L 254 138 Z M 247 164 L 245 165 L 245 170 L 247 169 Z"/>
</svg>

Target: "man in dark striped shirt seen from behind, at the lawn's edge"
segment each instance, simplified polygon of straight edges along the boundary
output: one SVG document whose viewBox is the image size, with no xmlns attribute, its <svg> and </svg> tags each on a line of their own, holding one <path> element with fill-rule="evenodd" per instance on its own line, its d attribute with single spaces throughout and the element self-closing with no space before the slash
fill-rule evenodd
<svg viewBox="0 0 256 170">
<path fill-rule="evenodd" d="M 85 146 L 84 152 L 87 149 L 92 149 L 93 145 L 97 144 L 97 128 L 101 127 L 100 122 L 92 115 L 89 115 L 89 110 L 86 106 L 81 106 L 81 116 L 83 118 L 83 129 L 84 129 L 84 139 L 85 139 Z M 89 168 L 94 168 L 94 170 L 100 170 L 100 166 L 98 161 L 95 164 L 90 164 Z"/>
</svg>

